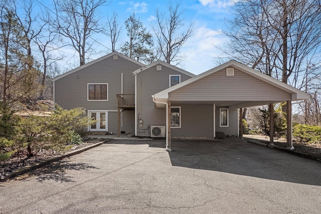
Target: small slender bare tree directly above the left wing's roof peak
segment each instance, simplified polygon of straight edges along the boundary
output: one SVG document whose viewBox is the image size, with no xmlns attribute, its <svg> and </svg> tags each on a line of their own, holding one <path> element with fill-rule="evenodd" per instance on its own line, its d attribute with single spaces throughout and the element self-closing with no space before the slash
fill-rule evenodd
<svg viewBox="0 0 321 214">
<path fill-rule="evenodd" d="M 112 52 L 116 51 L 116 43 L 118 42 L 121 33 L 121 26 L 119 27 L 117 19 L 118 15 L 116 13 L 113 13 L 110 19 L 107 15 L 107 27 L 103 30 L 103 33 L 110 39 Z"/>
</svg>

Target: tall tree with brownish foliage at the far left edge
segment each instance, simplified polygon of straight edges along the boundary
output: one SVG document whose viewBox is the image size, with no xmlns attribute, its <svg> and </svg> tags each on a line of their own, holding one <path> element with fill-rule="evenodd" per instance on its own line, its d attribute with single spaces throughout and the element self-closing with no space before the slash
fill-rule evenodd
<svg viewBox="0 0 321 214">
<path fill-rule="evenodd" d="M 36 93 L 39 72 L 26 51 L 28 40 L 16 14 L 0 7 L 0 100 L 13 104 Z"/>
</svg>

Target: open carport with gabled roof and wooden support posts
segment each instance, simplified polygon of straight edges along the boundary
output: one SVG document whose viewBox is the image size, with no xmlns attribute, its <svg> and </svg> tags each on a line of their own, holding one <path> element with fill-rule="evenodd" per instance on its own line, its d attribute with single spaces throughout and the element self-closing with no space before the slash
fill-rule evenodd
<svg viewBox="0 0 321 214">
<path fill-rule="evenodd" d="M 166 149 L 171 151 L 171 106 L 178 104 L 213 104 L 238 109 L 239 137 L 242 137 L 242 111 L 252 106 L 269 105 L 270 143 L 274 136 L 274 104 L 286 102 L 287 148 L 292 146 L 292 104 L 310 99 L 310 95 L 272 77 L 231 60 L 187 81 L 152 95 L 156 108 L 166 108 Z M 195 125 L 195 124 L 190 124 Z M 213 136 L 215 137 L 215 119 Z"/>
</svg>

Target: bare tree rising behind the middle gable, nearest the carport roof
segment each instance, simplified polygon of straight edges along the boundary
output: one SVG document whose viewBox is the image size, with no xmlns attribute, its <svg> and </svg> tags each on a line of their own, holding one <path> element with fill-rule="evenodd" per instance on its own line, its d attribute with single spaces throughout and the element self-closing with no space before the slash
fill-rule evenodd
<svg viewBox="0 0 321 214">
<path fill-rule="evenodd" d="M 180 10 L 180 6 L 181 3 L 173 4 L 170 1 L 168 15 L 157 9 L 156 24 L 152 26 L 161 59 L 175 65 L 184 60 L 184 56 L 180 55 L 180 49 L 194 32 L 193 23 L 185 27 L 185 20 L 182 19 L 184 11 Z"/>
</svg>

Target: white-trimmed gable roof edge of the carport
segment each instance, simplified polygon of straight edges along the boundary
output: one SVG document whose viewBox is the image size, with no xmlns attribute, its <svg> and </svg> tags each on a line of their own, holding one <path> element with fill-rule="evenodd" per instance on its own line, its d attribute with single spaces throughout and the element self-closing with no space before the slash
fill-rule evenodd
<svg viewBox="0 0 321 214">
<path fill-rule="evenodd" d="M 281 81 L 276 80 L 276 79 L 274 79 L 274 78 L 272 78 L 270 76 L 267 76 L 267 75 L 265 75 L 265 74 L 263 74 L 261 72 L 258 72 L 258 71 L 254 70 L 254 69 L 252 69 L 252 68 L 250 68 L 248 66 L 245 66 L 245 65 L 243 65 L 243 64 L 241 64 L 241 63 L 239 63 L 239 62 L 237 62 L 235 60 L 231 60 L 231 61 L 229 61 L 227 63 L 224 63 L 224 64 L 222 64 L 222 65 L 220 65 L 218 67 L 210 69 L 210 70 L 208 70 L 208 71 L 206 71 L 206 72 L 204 72 L 204 73 L 202 73 L 202 74 L 200 74 L 198 76 L 195 76 L 195 77 L 193 77 L 193 78 L 191 78 L 189 80 L 186 80 L 186 81 L 184 81 L 182 83 L 179 83 L 179 84 L 177 84 L 177 85 L 175 85 L 175 86 L 173 86 L 171 88 L 168 88 L 168 89 L 165 89 L 164 91 L 158 92 L 158 93 L 152 95 L 152 97 L 153 97 L 154 101 L 156 101 L 156 102 L 167 102 L 167 100 L 169 98 L 169 93 L 174 92 L 174 91 L 176 91 L 176 90 L 178 90 L 178 89 L 180 89 L 180 88 L 182 88 L 184 86 L 187 86 L 189 84 L 192 84 L 192 83 L 194 83 L 194 82 L 196 82 L 196 81 L 198 81 L 198 80 L 200 80 L 202 78 L 205 78 L 205 77 L 207 77 L 207 76 L 209 76 L 209 75 L 211 75 L 211 74 L 213 74 L 213 73 L 215 73 L 217 71 L 220 71 L 220 70 L 222 70 L 224 68 L 227 68 L 227 67 L 238 68 L 239 70 L 241 70 L 243 72 L 246 72 L 247 74 L 249 74 L 249 75 L 251 75 L 251 76 L 253 76 L 253 77 L 255 77 L 255 78 L 257 78 L 257 79 L 259 79 L 259 80 L 261 80 L 263 82 L 265 82 L 265 83 L 268 83 L 268 84 L 270 84 L 270 85 L 272 85 L 272 86 L 274 86 L 276 88 L 279 88 L 279 89 L 281 89 L 283 91 L 286 91 L 286 92 L 290 93 L 292 95 L 292 98 L 291 98 L 292 101 L 310 99 L 310 95 L 308 95 L 308 94 L 306 94 L 306 93 L 304 93 L 304 92 L 302 92 L 302 91 L 300 91 L 300 90 L 298 90 L 298 89 L 296 89 L 296 88 L 294 88 L 292 86 L 289 86 L 289 85 L 287 85 L 285 83 L 282 83 Z"/>
</svg>

